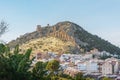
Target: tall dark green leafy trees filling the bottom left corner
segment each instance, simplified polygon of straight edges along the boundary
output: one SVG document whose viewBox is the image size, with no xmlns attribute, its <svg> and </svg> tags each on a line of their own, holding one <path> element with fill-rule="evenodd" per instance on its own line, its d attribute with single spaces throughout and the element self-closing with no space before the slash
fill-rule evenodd
<svg viewBox="0 0 120 80">
<path fill-rule="evenodd" d="M 28 79 L 26 76 L 29 76 L 28 68 L 32 62 L 29 59 L 31 49 L 25 55 L 18 53 L 18 46 L 11 53 L 9 47 L 0 44 L 0 80 Z"/>
</svg>

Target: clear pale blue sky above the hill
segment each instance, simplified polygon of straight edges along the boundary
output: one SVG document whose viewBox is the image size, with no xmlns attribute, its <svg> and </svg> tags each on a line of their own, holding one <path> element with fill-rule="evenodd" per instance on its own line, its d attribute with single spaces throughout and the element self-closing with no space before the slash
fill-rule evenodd
<svg viewBox="0 0 120 80">
<path fill-rule="evenodd" d="M 120 46 L 120 0 L 0 0 L 0 20 L 9 42 L 36 30 L 36 25 L 71 21 L 88 32 Z"/>
</svg>

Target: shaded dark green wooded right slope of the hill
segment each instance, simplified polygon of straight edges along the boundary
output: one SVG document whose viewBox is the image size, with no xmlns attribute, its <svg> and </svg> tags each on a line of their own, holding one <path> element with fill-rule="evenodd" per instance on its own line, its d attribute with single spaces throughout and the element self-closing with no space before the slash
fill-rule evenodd
<svg viewBox="0 0 120 80">
<path fill-rule="evenodd" d="M 88 43 L 87 46 L 82 46 L 82 48 L 85 49 L 85 51 L 97 48 L 99 51 L 105 50 L 112 54 L 120 53 L 120 48 L 112 45 L 110 42 L 105 41 L 96 35 L 88 33 L 87 31 L 76 30 L 75 34 L 78 35 L 81 41 Z"/>
</svg>

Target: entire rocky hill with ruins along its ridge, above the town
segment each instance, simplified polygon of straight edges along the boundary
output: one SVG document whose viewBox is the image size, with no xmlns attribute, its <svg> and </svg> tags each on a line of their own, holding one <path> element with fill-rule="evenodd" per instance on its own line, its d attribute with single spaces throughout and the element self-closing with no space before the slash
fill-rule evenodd
<svg viewBox="0 0 120 80">
<path fill-rule="evenodd" d="M 69 21 L 59 22 L 53 26 L 37 25 L 36 31 L 26 33 L 8 43 L 11 48 L 17 44 L 24 49 L 32 47 L 33 51 L 82 53 L 97 48 L 111 54 L 120 53 L 120 48 Z"/>
</svg>

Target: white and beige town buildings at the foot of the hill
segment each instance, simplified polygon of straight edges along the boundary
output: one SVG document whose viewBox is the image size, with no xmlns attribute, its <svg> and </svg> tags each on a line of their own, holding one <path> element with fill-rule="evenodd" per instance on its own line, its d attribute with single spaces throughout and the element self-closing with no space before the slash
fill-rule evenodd
<svg viewBox="0 0 120 80">
<path fill-rule="evenodd" d="M 32 65 L 39 61 L 51 60 L 59 61 L 59 69 L 72 77 L 83 73 L 85 77 L 91 77 L 94 80 L 101 80 L 103 77 L 109 78 L 108 80 L 120 79 L 120 59 L 118 55 L 112 55 L 106 51 L 99 52 L 94 49 L 86 54 L 61 55 L 53 52 L 37 53 Z"/>
</svg>

